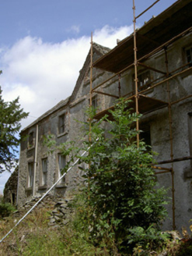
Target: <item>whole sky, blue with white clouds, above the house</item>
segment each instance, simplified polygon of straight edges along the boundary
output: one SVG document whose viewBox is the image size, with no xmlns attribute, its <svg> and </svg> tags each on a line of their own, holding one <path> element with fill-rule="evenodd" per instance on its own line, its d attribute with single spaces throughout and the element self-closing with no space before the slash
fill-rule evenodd
<svg viewBox="0 0 192 256">
<path fill-rule="evenodd" d="M 155 0 L 135 0 L 136 15 Z M 161 0 L 141 27 L 176 2 Z M 0 8 L 0 84 L 5 101 L 19 96 L 23 128 L 72 94 L 93 41 L 113 48 L 133 31 L 132 0 L 7 0 Z M 9 173 L 0 176 L 0 193 Z"/>
</svg>

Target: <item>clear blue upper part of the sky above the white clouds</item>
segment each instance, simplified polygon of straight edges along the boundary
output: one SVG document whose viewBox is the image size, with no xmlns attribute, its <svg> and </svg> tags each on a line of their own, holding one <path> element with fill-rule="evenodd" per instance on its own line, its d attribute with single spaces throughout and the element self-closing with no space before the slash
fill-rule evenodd
<svg viewBox="0 0 192 256">
<path fill-rule="evenodd" d="M 140 13 L 154 0 L 135 0 Z M 171 5 L 173 0 L 161 0 L 142 16 L 149 20 Z M 67 38 L 89 35 L 106 24 L 129 26 L 133 20 L 131 0 L 17 0 L 3 1 L 0 9 L 0 45 L 11 46 L 30 35 L 43 41 L 61 42 Z M 76 29 L 75 29 L 76 28 Z"/>
</svg>

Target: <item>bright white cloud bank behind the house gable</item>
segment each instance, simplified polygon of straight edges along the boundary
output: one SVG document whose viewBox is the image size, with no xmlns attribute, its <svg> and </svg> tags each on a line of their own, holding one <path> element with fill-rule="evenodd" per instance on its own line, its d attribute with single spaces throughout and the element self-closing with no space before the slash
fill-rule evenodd
<svg viewBox="0 0 192 256">
<path fill-rule="evenodd" d="M 78 27 L 74 27 L 78 30 Z M 132 32 L 131 27 L 105 26 L 93 33 L 93 41 L 113 48 L 117 38 Z M 19 96 L 19 102 L 30 116 L 38 117 L 67 98 L 75 87 L 79 70 L 89 52 L 90 37 L 72 38 L 58 44 L 37 37 L 24 37 L 12 48 L 0 49 L 0 76 L 5 101 Z M 23 127 L 32 123 L 29 117 Z"/>
</svg>

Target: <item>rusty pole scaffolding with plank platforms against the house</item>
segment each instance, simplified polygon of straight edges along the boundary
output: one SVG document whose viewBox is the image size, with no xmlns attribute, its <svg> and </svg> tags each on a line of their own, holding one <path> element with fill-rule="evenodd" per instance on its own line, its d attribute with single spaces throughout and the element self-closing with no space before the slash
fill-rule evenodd
<svg viewBox="0 0 192 256">
<path fill-rule="evenodd" d="M 142 16 L 148 9 L 151 9 L 160 0 L 155 1 L 150 5 L 145 11 L 141 12 L 138 16 L 135 15 L 135 3 L 133 0 L 133 23 L 134 23 L 134 33 L 129 37 L 126 37 L 123 41 L 117 44 L 117 47 L 113 48 L 110 52 L 103 55 L 103 57 L 96 60 L 93 63 L 93 36 L 91 40 L 91 85 L 90 85 L 90 105 L 92 105 L 93 92 L 97 94 L 103 94 L 105 96 L 113 98 L 125 98 L 126 100 L 131 100 L 129 108 L 133 108 L 134 112 L 137 114 L 141 113 L 145 115 L 148 112 L 154 112 L 159 108 L 168 108 L 169 116 L 169 144 L 170 144 L 170 158 L 169 160 L 164 160 L 158 162 L 158 166 L 153 166 L 156 171 L 155 174 L 162 174 L 169 172 L 172 180 L 172 212 L 173 212 L 173 229 L 176 228 L 175 222 L 175 185 L 174 185 L 174 162 L 181 162 L 192 159 L 192 156 L 187 156 L 183 158 L 173 157 L 173 120 L 172 120 L 172 107 L 180 101 L 184 101 L 187 98 L 191 98 L 192 95 L 186 95 L 186 97 L 179 98 L 176 101 L 171 101 L 171 91 L 169 81 L 173 80 L 176 76 L 183 75 L 184 73 L 191 73 L 192 67 L 191 63 L 188 62 L 185 65 L 177 67 L 174 70 L 169 70 L 169 59 L 167 55 L 167 48 L 177 41 L 181 37 L 190 34 L 192 31 L 192 2 L 191 0 L 178 0 L 168 9 L 162 12 L 155 19 L 151 19 L 139 30 L 136 28 L 136 21 L 140 16 Z M 152 55 L 163 51 L 165 54 L 165 65 L 166 72 L 155 67 L 145 65 L 145 61 L 149 59 Z M 145 69 L 154 71 L 155 73 L 161 74 L 161 76 L 155 80 L 150 80 L 148 84 L 139 87 L 138 90 L 138 66 L 142 66 Z M 93 67 L 104 69 L 113 76 L 110 76 L 107 80 L 96 87 L 92 86 L 92 72 Z M 120 92 L 120 75 L 127 72 L 128 69 L 134 69 L 134 91 L 121 96 Z M 106 84 L 113 78 L 117 77 L 118 80 L 118 96 L 113 94 L 108 94 L 103 91 L 98 91 L 99 87 Z M 146 92 L 152 90 L 152 88 L 159 87 L 161 84 L 166 84 L 166 94 L 167 100 L 162 101 L 157 98 L 150 98 L 145 95 Z M 147 88 L 146 88 L 147 86 Z M 103 111 L 96 113 L 94 119 L 101 119 L 106 114 L 109 114 L 109 110 L 114 107 L 106 108 Z M 139 122 L 136 122 L 136 129 L 139 131 Z M 137 135 L 137 144 L 139 147 L 139 133 Z M 169 163 L 170 168 L 163 167 L 164 164 Z M 159 166 L 161 165 L 161 166 Z"/>
</svg>

